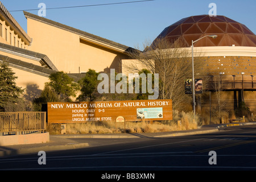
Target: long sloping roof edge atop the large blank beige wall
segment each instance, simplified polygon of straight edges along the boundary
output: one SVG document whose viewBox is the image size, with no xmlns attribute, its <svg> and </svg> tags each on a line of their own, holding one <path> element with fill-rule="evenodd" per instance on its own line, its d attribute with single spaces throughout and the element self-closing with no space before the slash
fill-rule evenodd
<svg viewBox="0 0 256 182">
<path fill-rule="evenodd" d="M 88 42 L 92 42 L 92 43 L 98 44 L 100 46 L 109 47 L 110 49 L 111 48 L 116 49 L 117 51 L 119 50 L 119 52 L 129 52 L 130 50 L 134 49 L 134 48 L 125 46 L 123 44 L 113 42 L 112 40 L 101 38 L 100 36 L 97 36 L 97 35 L 89 34 L 88 32 L 79 30 L 77 28 L 73 28 L 73 27 L 67 26 L 65 24 L 55 22 L 53 20 L 44 18 L 42 16 L 38 16 L 38 15 L 35 15 L 35 14 L 28 13 L 27 11 L 23 11 L 23 13 L 24 13 L 26 18 L 31 18 L 31 19 L 34 19 L 34 20 L 38 20 L 40 22 L 50 24 L 51 26 L 55 26 L 55 27 L 61 28 L 61 29 L 66 30 L 66 31 L 71 31 L 75 34 L 78 34 L 78 35 L 82 36 L 83 38 L 86 38 L 86 40 Z"/>
</svg>

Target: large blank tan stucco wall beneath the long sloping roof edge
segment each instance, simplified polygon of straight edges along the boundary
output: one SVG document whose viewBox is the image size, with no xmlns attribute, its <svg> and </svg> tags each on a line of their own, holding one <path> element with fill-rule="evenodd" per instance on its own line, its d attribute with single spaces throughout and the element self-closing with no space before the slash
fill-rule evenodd
<svg viewBox="0 0 256 182">
<path fill-rule="evenodd" d="M 49 57 L 52 63 L 67 73 L 104 72 L 117 68 L 127 56 L 117 51 L 88 43 L 81 35 L 55 27 L 39 20 L 27 18 L 28 35 L 32 38 L 31 51 Z"/>
</svg>

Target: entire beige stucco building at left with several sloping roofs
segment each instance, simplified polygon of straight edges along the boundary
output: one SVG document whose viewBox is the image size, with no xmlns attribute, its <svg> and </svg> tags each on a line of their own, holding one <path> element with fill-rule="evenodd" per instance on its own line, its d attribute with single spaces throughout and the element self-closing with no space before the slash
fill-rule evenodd
<svg viewBox="0 0 256 182">
<path fill-rule="evenodd" d="M 16 84 L 27 93 L 34 90 L 35 97 L 52 73 L 71 73 L 77 82 L 77 73 L 88 69 L 121 72 L 121 60 L 128 58 L 130 47 L 28 12 L 24 16 L 27 32 L 0 2 L 0 61 L 9 63 Z"/>
</svg>

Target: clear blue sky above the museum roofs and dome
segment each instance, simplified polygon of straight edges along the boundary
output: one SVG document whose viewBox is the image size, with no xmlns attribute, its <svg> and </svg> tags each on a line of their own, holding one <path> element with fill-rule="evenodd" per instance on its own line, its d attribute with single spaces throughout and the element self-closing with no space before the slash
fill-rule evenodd
<svg viewBox="0 0 256 182">
<path fill-rule="evenodd" d="M 53 8 L 131 1 L 138 0 L 2 0 L 2 3 L 7 10 L 13 11 L 39 9 L 39 3 L 45 3 L 47 8 Z M 119 5 L 46 10 L 45 18 L 126 46 L 137 47 L 146 40 L 154 40 L 164 28 L 177 22 L 177 20 L 192 15 L 208 14 L 209 3 L 216 3 L 217 15 L 224 15 L 245 24 L 256 34 L 255 0 L 155 0 Z M 38 14 L 38 10 L 28 12 Z M 10 13 L 27 31 L 27 21 L 23 12 Z"/>
</svg>

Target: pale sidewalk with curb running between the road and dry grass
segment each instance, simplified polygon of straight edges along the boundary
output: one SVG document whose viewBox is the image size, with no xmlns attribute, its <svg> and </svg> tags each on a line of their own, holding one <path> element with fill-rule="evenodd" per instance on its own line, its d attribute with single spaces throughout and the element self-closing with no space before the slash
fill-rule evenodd
<svg viewBox="0 0 256 182">
<path fill-rule="evenodd" d="M 183 135 L 196 135 L 217 132 L 222 127 L 256 125 L 256 122 L 229 123 L 219 125 L 202 126 L 200 129 L 171 131 L 164 133 L 119 133 L 119 134 L 81 134 L 81 135 L 50 135 L 49 142 L 36 144 L 21 144 L 13 146 L 0 146 L 0 157 L 10 155 L 21 155 L 38 153 L 39 151 L 57 151 L 84 148 L 90 146 L 89 143 L 80 143 L 72 138 L 164 138 Z"/>
</svg>

